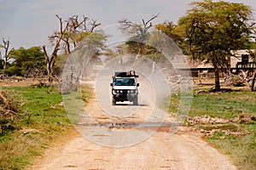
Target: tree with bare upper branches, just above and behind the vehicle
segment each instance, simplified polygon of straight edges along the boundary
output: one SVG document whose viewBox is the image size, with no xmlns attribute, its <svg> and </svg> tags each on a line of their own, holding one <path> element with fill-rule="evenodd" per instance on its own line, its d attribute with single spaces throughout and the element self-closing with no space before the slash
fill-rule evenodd
<svg viewBox="0 0 256 170">
<path fill-rule="evenodd" d="M 154 72 L 157 66 L 168 74 L 168 71 L 171 71 L 173 68 L 170 61 L 166 58 L 166 55 L 170 56 L 167 54 L 169 52 L 173 54 L 172 49 L 174 48 L 172 48 L 171 38 L 166 36 L 164 31 L 160 31 L 159 25 L 153 26 L 152 21 L 158 16 L 159 14 L 154 14 L 148 20 L 143 19 L 142 24 L 137 24 L 131 20 L 119 20 L 119 29 L 130 36 L 130 38 L 125 44 L 119 46 L 118 51 L 123 53 L 126 50 L 125 53 L 137 54 L 136 59 L 138 59 L 139 62 L 143 60 L 143 57 L 146 57 L 153 61 L 151 73 Z M 139 59 L 138 57 L 141 58 Z"/>
</svg>

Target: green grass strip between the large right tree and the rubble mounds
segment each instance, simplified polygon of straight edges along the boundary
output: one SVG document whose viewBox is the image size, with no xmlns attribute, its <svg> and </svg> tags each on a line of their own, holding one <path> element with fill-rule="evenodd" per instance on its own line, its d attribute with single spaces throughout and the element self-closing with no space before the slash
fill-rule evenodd
<svg viewBox="0 0 256 170">
<path fill-rule="evenodd" d="M 170 111 L 176 112 L 179 95 L 171 98 Z M 213 117 L 232 118 L 241 113 L 256 116 L 256 94 L 252 92 L 227 92 L 194 94 L 189 116 L 209 115 Z"/>
</svg>

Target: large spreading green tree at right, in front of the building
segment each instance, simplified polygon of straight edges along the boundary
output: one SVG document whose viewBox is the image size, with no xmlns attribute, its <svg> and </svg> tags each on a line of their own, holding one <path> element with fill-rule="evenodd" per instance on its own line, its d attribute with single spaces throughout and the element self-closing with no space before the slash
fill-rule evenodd
<svg viewBox="0 0 256 170">
<path fill-rule="evenodd" d="M 252 10 L 242 3 L 212 0 L 191 6 L 178 26 L 185 28 L 189 54 L 213 65 L 215 89 L 220 90 L 219 72 L 230 71 L 230 51 L 250 47 Z"/>
</svg>

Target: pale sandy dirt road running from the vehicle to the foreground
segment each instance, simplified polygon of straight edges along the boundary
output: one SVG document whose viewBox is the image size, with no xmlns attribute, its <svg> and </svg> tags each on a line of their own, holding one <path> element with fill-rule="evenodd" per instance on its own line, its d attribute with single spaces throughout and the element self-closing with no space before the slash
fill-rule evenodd
<svg viewBox="0 0 256 170">
<path fill-rule="evenodd" d="M 119 105 L 114 107 L 125 110 L 129 106 Z M 109 135 L 96 132 L 94 133 L 96 139 L 90 139 L 85 135 L 86 139 L 82 134 L 78 134 L 67 144 L 48 150 L 44 158 L 32 169 L 236 169 L 230 164 L 227 157 L 201 140 L 197 134 L 185 130 L 184 127 L 176 133 L 169 133 L 166 127 L 160 127 L 158 130 L 154 127 L 141 127 L 135 129 L 133 133 L 139 135 L 142 133 L 150 134 L 148 138 L 135 142 L 133 145 L 130 143 L 131 146 L 127 147 L 103 146 L 102 144 L 106 144 L 104 143 L 106 139 L 112 142 L 119 139 L 117 137 L 114 139 L 111 136 L 112 131 L 123 132 L 133 128 L 122 127 L 123 124 L 121 123 L 132 125 L 132 123 L 143 121 L 144 117 L 147 116 L 147 111 L 152 109 L 152 105 L 138 106 L 133 109 L 136 113 L 143 114 L 135 113 L 125 116 L 125 118 L 109 116 L 96 104 L 96 99 L 92 99 L 90 105 L 87 106 L 87 110 L 90 111 L 89 114 L 95 118 L 96 124 L 99 124 L 99 126 L 94 124 L 93 126 L 81 126 L 80 128 L 88 127 L 86 132 L 90 132 L 96 127 L 102 127 L 106 129 Z M 115 122 L 115 124 L 110 122 Z M 172 122 L 172 117 L 167 117 L 166 122 Z M 83 130 L 80 132 L 83 133 Z M 130 137 L 132 139 L 132 136 Z M 128 138 L 129 136 L 127 136 L 129 141 Z M 136 139 L 137 136 L 134 136 L 134 138 Z M 101 141 L 102 144 L 96 144 L 101 143 Z M 118 141 L 117 143 L 110 142 L 107 145 L 110 144 L 118 144 Z"/>
</svg>

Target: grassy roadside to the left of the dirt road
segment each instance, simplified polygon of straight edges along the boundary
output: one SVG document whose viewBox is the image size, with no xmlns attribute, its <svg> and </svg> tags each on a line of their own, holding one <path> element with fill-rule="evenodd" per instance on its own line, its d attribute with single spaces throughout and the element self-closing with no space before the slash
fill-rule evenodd
<svg viewBox="0 0 256 170">
<path fill-rule="evenodd" d="M 16 129 L 0 136 L 0 169 L 24 169 L 51 144 L 73 132 L 62 96 L 50 87 L 6 88 L 22 98 L 22 110 L 29 113 L 15 122 Z M 89 98 L 89 94 L 86 98 Z"/>
</svg>

